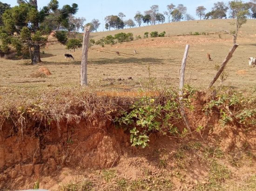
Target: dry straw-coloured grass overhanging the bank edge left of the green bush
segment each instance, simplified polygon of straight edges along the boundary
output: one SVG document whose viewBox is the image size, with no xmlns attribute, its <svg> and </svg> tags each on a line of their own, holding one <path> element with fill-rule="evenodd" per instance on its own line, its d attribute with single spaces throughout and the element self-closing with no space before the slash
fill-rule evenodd
<svg viewBox="0 0 256 191">
<path fill-rule="evenodd" d="M 111 120 L 113 113 L 131 104 L 129 98 L 112 99 L 75 88 L 31 89 L 27 94 L 21 93 L 24 89 L 13 91 L 6 88 L 2 92 L 7 99 L 0 100 L 0 130 L 9 119 L 18 128 L 25 128 L 30 122 L 39 122 L 42 127 L 47 127 L 51 122 L 58 125 L 61 121 L 79 123 L 81 119 Z"/>
</svg>

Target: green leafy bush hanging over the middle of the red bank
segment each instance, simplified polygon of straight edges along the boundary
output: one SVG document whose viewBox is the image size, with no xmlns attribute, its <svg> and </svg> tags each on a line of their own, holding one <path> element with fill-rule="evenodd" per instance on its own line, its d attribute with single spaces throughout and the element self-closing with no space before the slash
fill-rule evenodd
<svg viewBox="0 0 256 191">
<path fill-rule="evenodd" d="M 148 135 L 151 132 L 160 132 L 164 135 L 178 134 L 175 121 L 181 120 L 180 102 L 177 93 L 173 91 L 170 93 L 172 98 L 163 102 L 142 97 L 130 107 L 129 112 L 124 111 L 121 113 L 121 117 L 115 118 L 115 122 L 118 122 L 119 125 L 130 128 L 132 146 L 141 146 L 142 148 L 148 146 Z"/>
</svg>

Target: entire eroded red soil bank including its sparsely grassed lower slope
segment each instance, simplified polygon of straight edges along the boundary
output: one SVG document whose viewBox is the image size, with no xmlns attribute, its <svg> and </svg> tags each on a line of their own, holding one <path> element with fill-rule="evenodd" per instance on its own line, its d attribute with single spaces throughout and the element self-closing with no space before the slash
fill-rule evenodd
<svg viewBox="0 0 256 191">
<path fill-rule="evenodd" d="M 256 175 L 256 128 L 222 126 L 219 113 L 204 114 L 205 103 L 198 94 L 187 110 L 192 136 L 152 132 L 144 149 L 132 147 L 129 130 L 107 119 L 22 128 L 7 120 L 0 133 L 0 190 L 31 189 L 36 182 L 68 190 L 65 184 L 84 178 L 84 190 L 217 190 L 227 182 L 224 190 L 235 183 L 245 188 L 244 178 Z M 184 129 L 182 122 L 177 127 Z"/>
</svg>

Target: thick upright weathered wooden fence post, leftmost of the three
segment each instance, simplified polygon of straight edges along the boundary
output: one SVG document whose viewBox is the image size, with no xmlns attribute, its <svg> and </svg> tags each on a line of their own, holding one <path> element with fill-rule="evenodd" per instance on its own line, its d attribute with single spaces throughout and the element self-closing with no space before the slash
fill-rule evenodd
<svg viewBox="0 0 256 191">
<path fill-rule="evenodd" d="M 82 44 L 82 60 L 81 60 L 81 86 L 87 85 L 87 58 L 89 46 L 90 26 L 84 26 L 84 37 Z"/>
</svg>

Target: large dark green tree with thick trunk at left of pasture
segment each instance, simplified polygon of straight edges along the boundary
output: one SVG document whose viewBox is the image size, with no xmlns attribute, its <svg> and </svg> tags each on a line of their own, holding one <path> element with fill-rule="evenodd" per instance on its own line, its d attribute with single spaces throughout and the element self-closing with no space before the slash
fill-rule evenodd
<svg viewBox="0 0 256 191">
<path fill-rule="evenodd" d="M 47 22 L 44 21 L 54 20 L 63 27 L 68 26 L 68 17 L 77 12 L 78 5 L 75 3 L 72 6 L 64 5 L 59 9 L 59 2 L 51 0 L 47 6 L 38 10 L 37 0 L 18 0 L 18 3 L 18 6 L 7 9 L 2 15 L 4 23 L 0 29 L 0 39 L 4 47 L 2 51 L 6 51 L 10 45 L 17 51 L 27 49 L 32 64 L 40 63 L 40 47 L 46 44 L 46 35 L 49 32 Z M 42 23 L 44 25 L 41 27 Z"/>
</svg>

